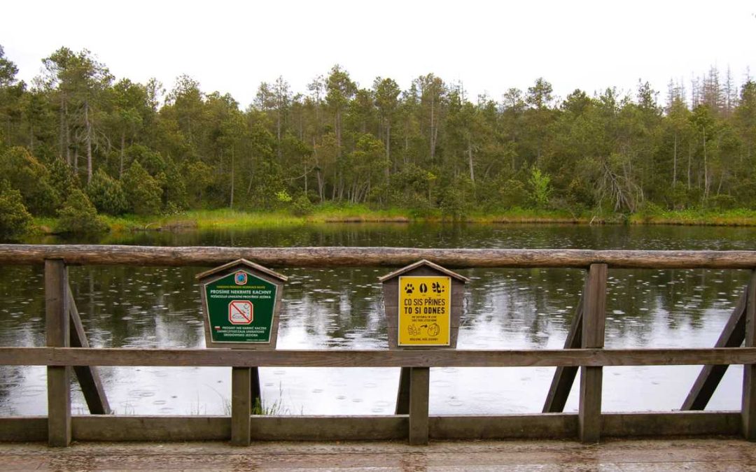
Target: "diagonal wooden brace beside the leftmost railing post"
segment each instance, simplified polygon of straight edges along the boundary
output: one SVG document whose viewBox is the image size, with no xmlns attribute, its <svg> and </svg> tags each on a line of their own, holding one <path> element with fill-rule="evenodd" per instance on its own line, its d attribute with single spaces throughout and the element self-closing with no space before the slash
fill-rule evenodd
<svg viewBox="0 0 756 472">
<path fill-rule="evenodd" d="M 67 287 L 66 292 L 71 347 L 89 347 L 89 341 L 87 341 L 84 325 L 82 325 L 82 319 L 79 317 L 79 310 L 76 308 L 76 301 L 73 299 L 70 286 Z M 110 415 L 112 410 L 110 404 L 107 403 L 107 396 L 105 396 L 105 389 L 102 387 L 97 366 L 73 366 L 73 372 L 76 372 L 76 378 L 79 380 L 79 386 L 82 387 L 89 412 L 92 415 Z"/>
</svg>

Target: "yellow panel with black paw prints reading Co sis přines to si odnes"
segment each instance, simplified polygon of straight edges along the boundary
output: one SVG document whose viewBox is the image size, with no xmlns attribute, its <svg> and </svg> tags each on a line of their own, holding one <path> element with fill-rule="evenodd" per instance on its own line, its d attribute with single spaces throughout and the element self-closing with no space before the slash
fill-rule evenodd
<svg viewBox="0 0 756 472">
<path fill-rule="evenodd" d="M 399 346 L 451 343 L 451 277 L 399 277 Z"/>
</svg>

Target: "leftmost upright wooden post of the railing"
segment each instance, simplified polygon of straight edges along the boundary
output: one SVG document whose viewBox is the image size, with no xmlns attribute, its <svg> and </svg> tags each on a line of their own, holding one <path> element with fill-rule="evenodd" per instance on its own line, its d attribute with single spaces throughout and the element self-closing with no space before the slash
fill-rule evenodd
<svg viewBox="0 0 756 472">
<path fill-rule="evenodd" d="M 69 347 L 68 269 L 62 259 L 45 260 L 45 329 L 47 345 Z M 71 368 L 48 366 L 48 444 L 71 443 Z"/>
</svg>

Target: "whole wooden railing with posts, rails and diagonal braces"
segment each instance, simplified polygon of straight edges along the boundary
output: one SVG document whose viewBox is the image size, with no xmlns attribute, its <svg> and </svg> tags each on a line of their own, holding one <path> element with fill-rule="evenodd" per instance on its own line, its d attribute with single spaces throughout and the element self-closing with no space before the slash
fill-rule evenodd
<svg viewBox="0 0 756 472">
<path fill-rule="evenodd" d="M 425 258 L 447 267 L 581 267 L 581 301 L 563 350 L 225 350 L 89 348 L 67 280 L 67 266 L 212 266 L 246 258 L 269 267 L 400 266 Z M 756 440 L 756 251 L 584 251 L 416 248 L 162 248 L 104 245 L 0 245 L 0 264 L 44 264 L 47 347 L 0 347 L 0 365 L 47 366 L 48 416 L 0 418 L 0 440 L 389 440 L 742 434 Z M 613 268 L 750 270 L 749 282 L 711 349 L 604 349 L 606 279 Z M 72 330 L 73 325 L 73 330 Z M 744 347 L 740 347 L 745 344 Z M 76 346 L 76 347 L 72 347 Z M 80 346 L 80 347 L 79 347 Z M 739 412 L 704 412 L 727 366 L 742 364 Z M 604 366 L 702 365 L 679 412 L 602 413 Z M 397 415 L 251 416 L 251 369 L 234 369 L 231 416 L 71 415 L 72 367 L 91 413 L 108 410 L 91 366 L 401 367 Z M 85 367 L 82 367 L 85 366 Z M 556 366 L 544 413 L 429 415 L 431 367 Z M 563 413 L 581 369 L 578 414 Z M 246 373 L 245 373 L 246 372 Z M 238 373 L 238 374 L 237 374 Z M 86 385 L 86 387 L 85 387 Z M 91 397 L 91 398 L 90 398 Z"/>
</svg>

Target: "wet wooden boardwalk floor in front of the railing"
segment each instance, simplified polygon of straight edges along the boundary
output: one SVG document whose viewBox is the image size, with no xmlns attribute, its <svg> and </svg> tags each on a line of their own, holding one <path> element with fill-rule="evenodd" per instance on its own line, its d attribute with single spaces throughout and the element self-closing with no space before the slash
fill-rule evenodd
<svg viewBox="0 0 756 472">
<path fill-rule="evenodd" d="M 745 440 L 432 441 L 406 443 L 0 443 L 2 470 L 364 470 L 539 472 L 756 470 Z"/>
</svg>

